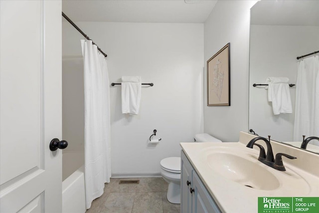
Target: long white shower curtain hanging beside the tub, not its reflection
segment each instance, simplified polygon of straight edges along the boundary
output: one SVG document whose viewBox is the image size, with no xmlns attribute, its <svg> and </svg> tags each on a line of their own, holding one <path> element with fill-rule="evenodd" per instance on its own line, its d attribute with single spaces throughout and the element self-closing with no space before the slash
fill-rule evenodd
<svg viewBox="0 0 319 213">
<path fill-rule="evenodd" d="M 84 152 L 86 208 L 111 177 L 110 91 L 107 62 L 91 40 L 81 40 L 84 60 Z"/>
</svg>

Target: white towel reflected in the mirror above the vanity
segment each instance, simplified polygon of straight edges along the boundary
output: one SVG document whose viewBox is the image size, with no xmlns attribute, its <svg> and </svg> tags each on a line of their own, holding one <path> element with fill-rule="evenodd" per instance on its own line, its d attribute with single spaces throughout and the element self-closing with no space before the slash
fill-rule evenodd
<svg viewBox="0 0 319 213">
<path fill-rule="evenodd" d="M 293 113 L 289 91 L 289 78 L 268 77 L 268 101 L 272 102 L 274 115 Z"/>
</svg>

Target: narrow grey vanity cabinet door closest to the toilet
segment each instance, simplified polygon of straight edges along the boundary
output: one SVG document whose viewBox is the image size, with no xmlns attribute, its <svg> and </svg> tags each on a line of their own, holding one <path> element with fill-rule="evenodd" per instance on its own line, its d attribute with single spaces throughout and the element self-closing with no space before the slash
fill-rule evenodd
<svg viewBox="0 0 319 213">
<path fill-rule="evenodd" d="M 190 187 L 192 183 L 192 171 L 190 163 L 188 162 L 185 154 L 181 151 L 181 177 L 180 177 L 180 212 L 191 213 L 191 194 Z"/>
</svg>

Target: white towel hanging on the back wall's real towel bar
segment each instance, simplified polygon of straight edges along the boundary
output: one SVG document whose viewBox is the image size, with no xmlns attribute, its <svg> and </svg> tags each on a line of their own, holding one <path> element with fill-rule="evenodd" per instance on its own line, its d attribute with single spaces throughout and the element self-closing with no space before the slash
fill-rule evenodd
<svg viewBox="0 0 319 213">
<path fill-rule="evenodd" d="M 138 115 L 141 102 L 141 76 L 122 77 L 122 113 Z"/>
</svg>

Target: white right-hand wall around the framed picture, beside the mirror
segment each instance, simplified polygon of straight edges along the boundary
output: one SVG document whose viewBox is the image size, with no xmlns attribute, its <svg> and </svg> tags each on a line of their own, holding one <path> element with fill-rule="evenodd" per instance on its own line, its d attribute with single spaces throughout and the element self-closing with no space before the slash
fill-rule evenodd
<svg viewBox="0 0 319 213">
<path fill-rule="evenodd" d="M 204 132 L 238 142 L 248 131 L 250 8 L 257 0 L 217 1 L 204 24 Z M 231 106 L 207 106 L 206 61 L 230 42 Z"/>
</svg>

